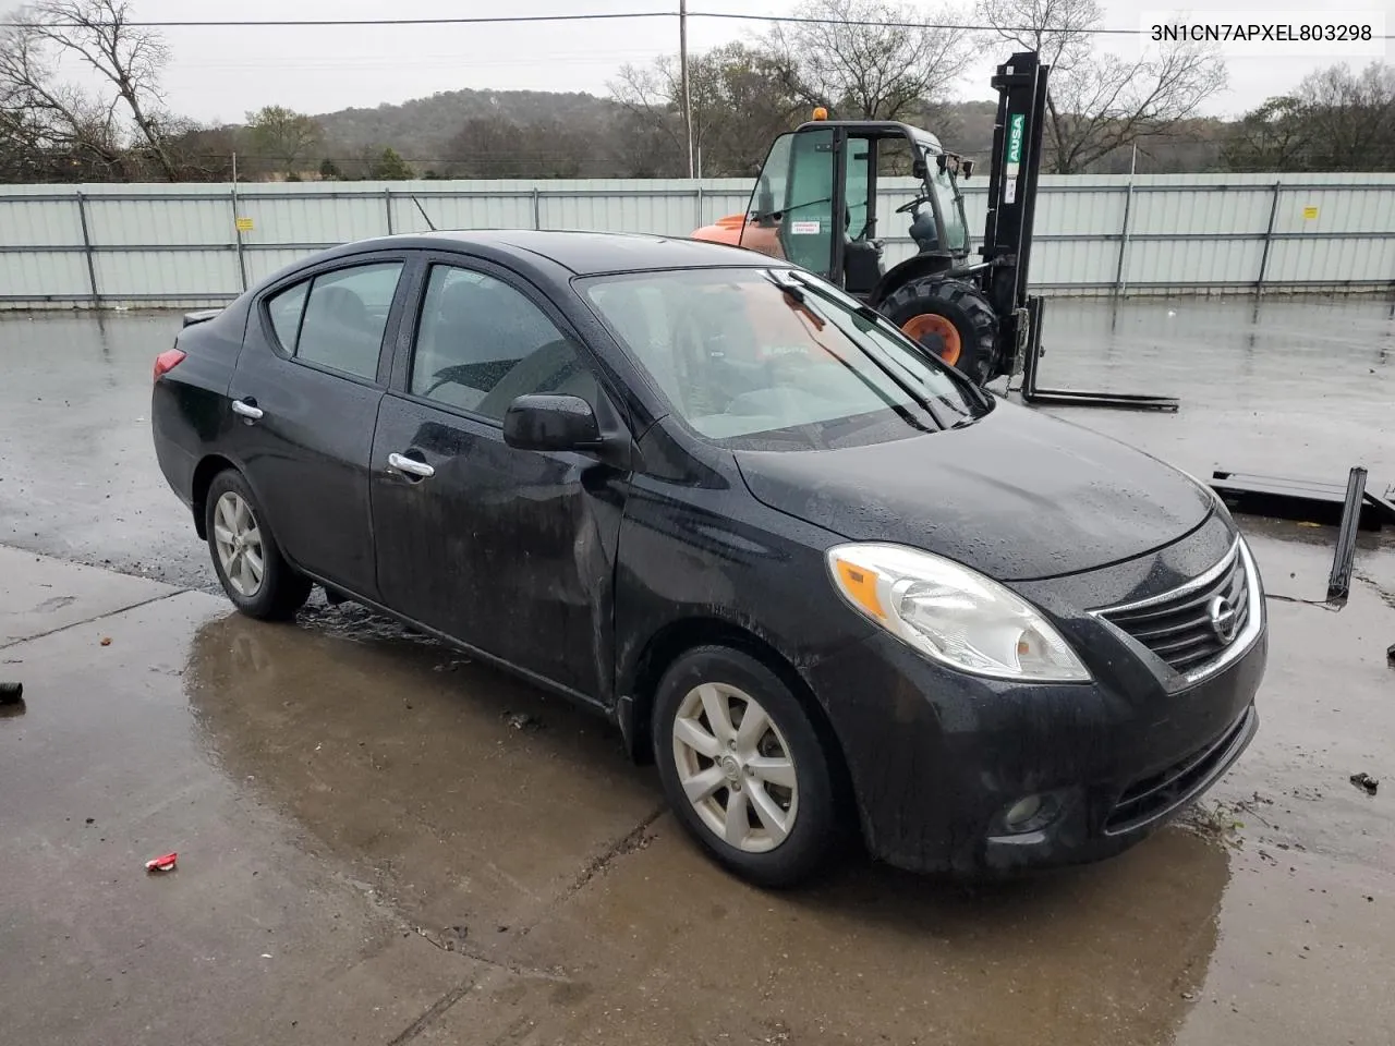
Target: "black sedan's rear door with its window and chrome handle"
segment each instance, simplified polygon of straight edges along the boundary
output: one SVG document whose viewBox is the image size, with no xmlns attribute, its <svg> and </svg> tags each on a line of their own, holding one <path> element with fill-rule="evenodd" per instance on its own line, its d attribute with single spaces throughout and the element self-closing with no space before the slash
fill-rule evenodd
<svg viewBox="0 0 1395 1046">
<path fill-rule="evenodd" d="M 377 598 L 368 462 L 406 255 L 357 255 L 268 290 L 229 395 L 230 452 L 293 563 Z"/>
</svg>

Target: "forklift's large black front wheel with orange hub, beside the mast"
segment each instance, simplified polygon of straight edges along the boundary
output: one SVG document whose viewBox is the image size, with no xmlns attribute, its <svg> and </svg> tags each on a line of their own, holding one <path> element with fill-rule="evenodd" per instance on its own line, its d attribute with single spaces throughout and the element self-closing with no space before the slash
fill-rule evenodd
<svg viewBox="0 0 1395 1046">
<path fill-rule="evenodd" d="M 912 280 L 887 294 L 879 311 L 976 385 L 993 377 L 997 317 L 972 283 L 933 276 Z"/>
</svg>

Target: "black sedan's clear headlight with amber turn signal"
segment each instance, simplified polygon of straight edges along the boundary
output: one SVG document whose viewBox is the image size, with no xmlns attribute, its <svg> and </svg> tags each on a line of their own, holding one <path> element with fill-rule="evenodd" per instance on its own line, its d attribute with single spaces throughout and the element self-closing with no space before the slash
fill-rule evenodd
<svg viewBox="0 0 1395 1046">
<path fill-rule="evenodd" d="M 829 573 L 843 597 L 901 642 L 975 675 L 1081 682 L 1087 669 L 1027 601 L 967 566 L 917 548 L 836 545 Z"/>
</svg>

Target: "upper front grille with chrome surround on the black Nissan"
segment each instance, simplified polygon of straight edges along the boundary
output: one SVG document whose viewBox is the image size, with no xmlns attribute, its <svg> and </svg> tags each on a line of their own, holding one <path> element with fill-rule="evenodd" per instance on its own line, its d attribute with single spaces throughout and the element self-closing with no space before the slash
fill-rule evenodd
<svg viewBox="0 0 1395 1046">
<path fill-rule="evenodd" d="M 1223 636 L 1212 604 L 1223 598 L 1235 612 Z M 1099 611 L 1179 672 L 1191 672 L 1225 653 L 1250 621 L 1250 584 L 1236 543 L 1219 563 L 1193 582 L 1151 600 Z"/>
</svg>

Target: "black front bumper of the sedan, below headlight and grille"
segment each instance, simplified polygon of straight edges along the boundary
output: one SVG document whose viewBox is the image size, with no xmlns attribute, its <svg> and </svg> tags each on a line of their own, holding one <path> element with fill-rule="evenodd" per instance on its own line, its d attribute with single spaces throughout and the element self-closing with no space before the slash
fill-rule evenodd
<svg viewBox="0 0 1395 1046">
<path fill-rule="evenodd" d="M 883 633 L 820 661 L 810 685 L 875 856 L 968 874 L 1080 863 L 1147 837 L 1240 756 L 1258 724 L 1267 628 L 1186 689 L 1136 674 L 1129 688 L 979 679 Z M 1003 814 L 1028 795 L 1057 812 L 1011 834 Z"/>
</svg>

